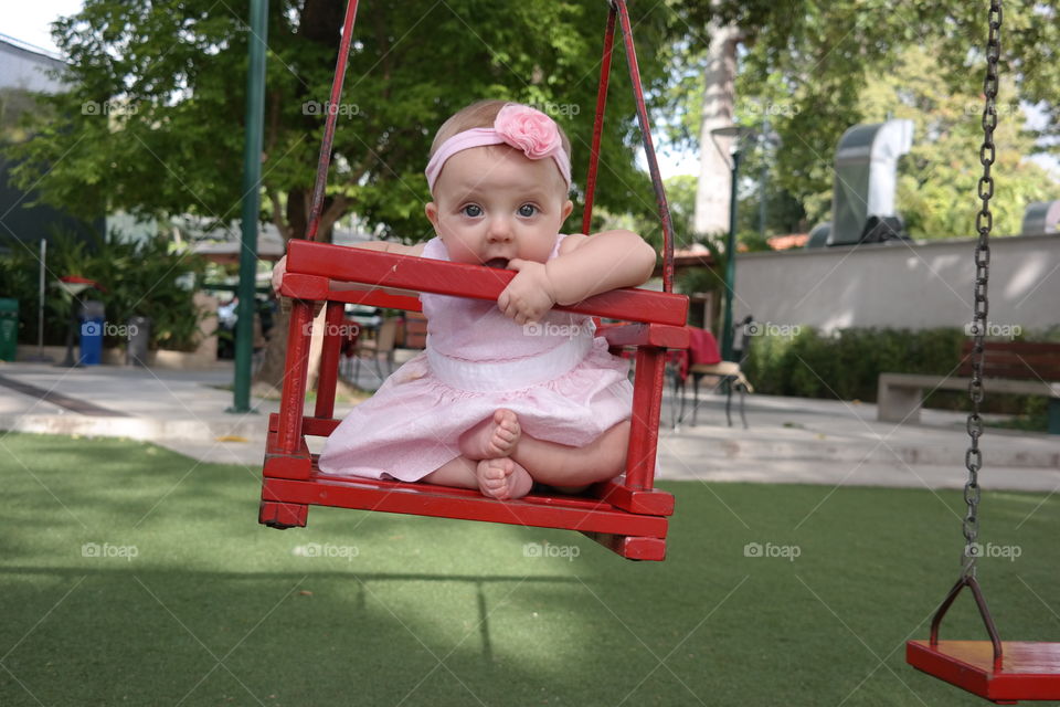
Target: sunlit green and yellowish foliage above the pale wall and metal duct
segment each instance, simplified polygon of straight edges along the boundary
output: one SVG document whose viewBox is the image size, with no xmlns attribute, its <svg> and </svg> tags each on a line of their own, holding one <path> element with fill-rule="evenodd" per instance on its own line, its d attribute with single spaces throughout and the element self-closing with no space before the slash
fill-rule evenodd
<svg viewBox="0 0 1060 707">
<path fill-rule="evenodd" d="M 972 232 L 985 6 L 723 0 L 713 7 L 722 22 L 734 22 L 742 32 L 735 119 L 762 128 L 768 118 L 782 145 L 770 154 L 749 152 L 744 173 L 757 175 L 767 165 L 771 193 L 789 194 L 808 223 L 827 220 L 834 150 L 842 133 L 859 123 L 913 117 L 916 148 L 901 166 L 900 211 L 919 238 Z M 689 28 L 687 53 L 675 56 L 668 86 L 678 116 L 667 123 L 669 136 L 690 149 L 699 139 L 706 88 L 709 34 L 700 28 Z M 1057 9 L 1037 0 L 1007 2 L 1001 31 L 995 223 L 998 233 L 1011 234 L 1027 202 L 1058 197 L 1056 180 L 1022 161 L 1035 152 L 1060 154 L 1060 140 L 1046 139 L 1060 135 Z M 1039 126 L 1022 125 L 1020 102 L 1042 110 Z"/>
</svg>

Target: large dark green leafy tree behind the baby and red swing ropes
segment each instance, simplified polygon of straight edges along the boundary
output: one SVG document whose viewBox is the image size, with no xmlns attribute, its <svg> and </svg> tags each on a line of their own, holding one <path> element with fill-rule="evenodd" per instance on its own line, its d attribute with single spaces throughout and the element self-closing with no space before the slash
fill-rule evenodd
<svg viewBox="0 0 1060 707">
<path fill-rule="evenodd" d="M 382 235 L 428 236 L 422 170 L 434 131 L 483 97 L 552 114 L 571 136 L 575 175 L 584 173 L 606 3 L 361 3 L 342 104 L 328 107 L 343 6 L 272 3 L 262 219 L 285 238 L 305 233 L 328 109 L 338 112 L 339 127 L 325 236 L 351 211 Z M 665 7 L 630 10 L 645 86 L 657 96 L 665 62 L 651 48 L 666 43 L 676 20 Z M 55 27 L 71 89 L 45 98 L 54 117 L 11 148 L 21 161 L 15 181 L 84 215 L 103 203 L 227 225 L 241 198 L 247 32 L 243 18 L 212 0 L 86 0 Z M 648 213 L 647 177 L 629 147 L 639 136 L 621 49 L 614 65 L 597 200 L 613 211 Z M 271 348 L 271 382 L 279 380 L 282 351 Z"/>
</svg>

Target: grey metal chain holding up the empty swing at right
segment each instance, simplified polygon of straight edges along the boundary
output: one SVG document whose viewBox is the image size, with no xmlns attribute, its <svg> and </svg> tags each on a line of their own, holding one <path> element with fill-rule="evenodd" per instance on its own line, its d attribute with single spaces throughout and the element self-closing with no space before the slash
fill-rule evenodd
<svg viewBox="0 0 1060 707">
<path fill-rule="evenodd" d="M 994 178 L 990 166 L 994 163 L 994 128 L 997 127 L 997 64 L 1001 54 L 1001 0 L 990 0 L 989 36 L 986 42 L 986 78 L 983 82 L 985 105 L 983 107 L 983 145 L 979 147 L 979 161 L 983 163 L 983 177 L 979 178 L 978 196 L 983 207 L 975 219 L 979 240 L 975 246 L 975 304 L 973 305 L 972 335 L 972 382 L 968 383 L 968 397 L 972 399 L 972 412 L 968 413 L 966 428 L 972 439 L 964 455 L 964 465 L 968 469 L 968 481 L 964 485 L 964 503 L 968 513 L 964 518 L 964 576 L 975 577 L 979 546 L 979 469 L 983 467 L 983 453 L 979 451 L 979 436 L 983 434 L 983 419 L 979 418 L 979 403 L 983 402 L 983 337 L 986 335 L 989 299 L 986 294 L 990 265 L 990 229 L 994 215 L 990 213 L 990 198 L 994 196 Z"/>
</svg>

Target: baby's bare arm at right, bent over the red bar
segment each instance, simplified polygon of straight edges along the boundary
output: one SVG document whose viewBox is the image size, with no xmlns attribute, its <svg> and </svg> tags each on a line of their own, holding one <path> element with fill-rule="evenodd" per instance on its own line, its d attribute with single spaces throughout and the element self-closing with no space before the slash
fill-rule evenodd
<svg viewBox="0 0 1060 707">
<path fill-rule="evenodd" d="M 518 321 L 537 321 L 553 305 L 573 305 L 593 295 L 644 284 L 655 270 L 655 249 L 632 231 L 569 235 L 548 263 L 512 260 L 519 271 L 497 305 Z"/>
</svg>

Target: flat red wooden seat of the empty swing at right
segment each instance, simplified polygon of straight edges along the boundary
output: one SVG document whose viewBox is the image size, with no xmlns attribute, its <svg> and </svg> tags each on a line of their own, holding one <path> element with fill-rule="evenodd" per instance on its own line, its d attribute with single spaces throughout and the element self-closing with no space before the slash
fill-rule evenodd
<svg viewBox="0 0 1060 707">
<path fill-rule="evenodd" d="M 909 641 L 905 662 L 999 705 L 1060 699 L 1060 643 L 1003 641 L 1000 669 L 989 641 Z"/>
</svg>

